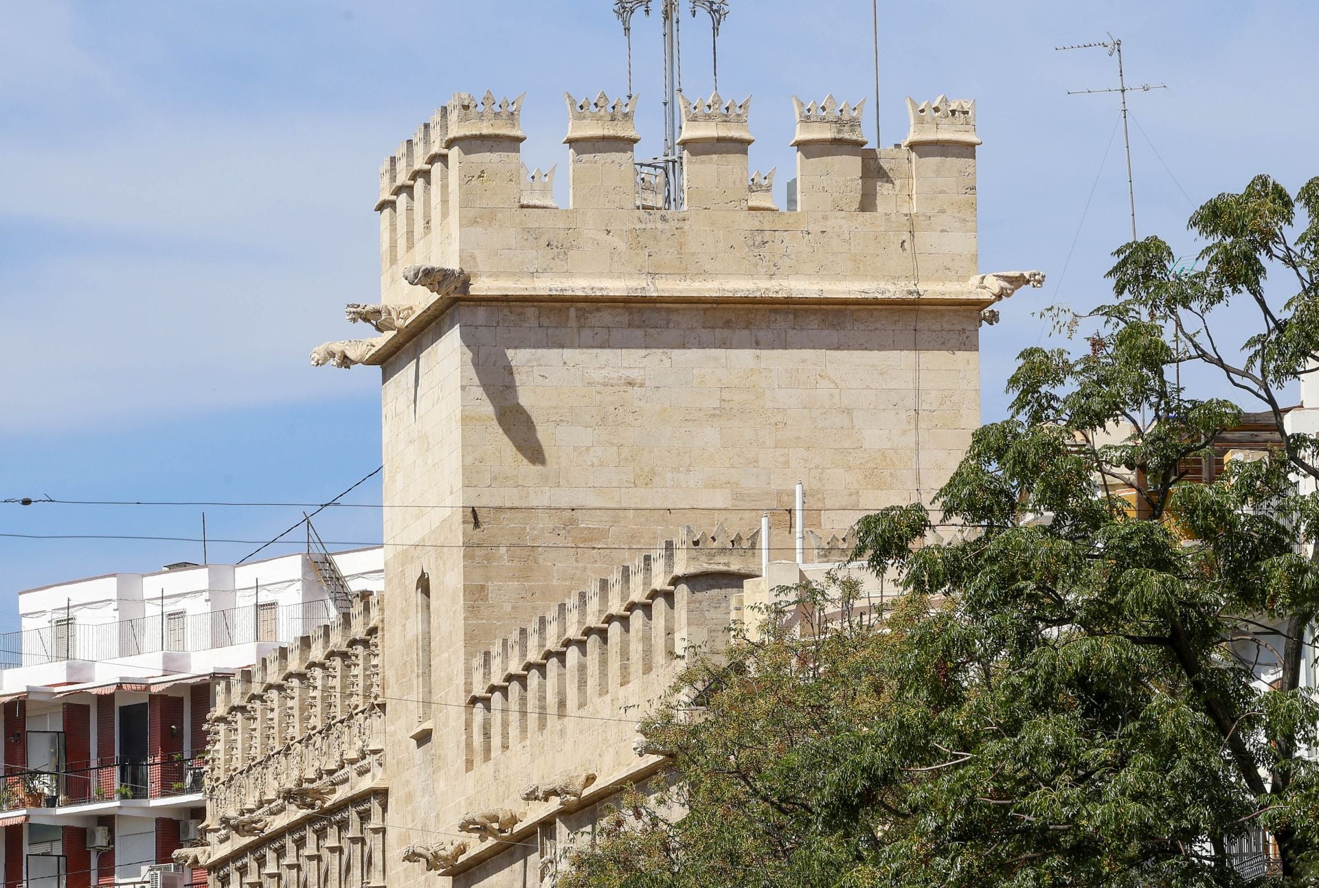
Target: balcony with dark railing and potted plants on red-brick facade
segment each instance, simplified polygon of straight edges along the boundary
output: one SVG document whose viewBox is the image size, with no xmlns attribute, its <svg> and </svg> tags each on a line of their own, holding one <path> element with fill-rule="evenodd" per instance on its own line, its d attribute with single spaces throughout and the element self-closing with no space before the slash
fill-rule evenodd
<svg viewBox="0 0 1319 888">
<path fill-rule="evenodd" d="M 84 805 L 200 798 L 206 772 L 200 756 L 153 761 L 112 760 L 91 768 L 11 771 L 0 784 L 0 811 L 61 809 Z"/>
</svg>

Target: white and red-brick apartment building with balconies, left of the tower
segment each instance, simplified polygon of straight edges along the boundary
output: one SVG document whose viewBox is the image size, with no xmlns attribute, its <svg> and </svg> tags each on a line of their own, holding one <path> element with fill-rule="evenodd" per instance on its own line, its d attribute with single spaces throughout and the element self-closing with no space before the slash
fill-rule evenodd
<svg viewBox="0 0 1319 888">
<path fill-rule="evenodd" d="M 381 549 L 174 565 L 18 594 L 0 636 L 4 888 L 189 884 L 218 681 L 379 588 Z"/>
</svg>

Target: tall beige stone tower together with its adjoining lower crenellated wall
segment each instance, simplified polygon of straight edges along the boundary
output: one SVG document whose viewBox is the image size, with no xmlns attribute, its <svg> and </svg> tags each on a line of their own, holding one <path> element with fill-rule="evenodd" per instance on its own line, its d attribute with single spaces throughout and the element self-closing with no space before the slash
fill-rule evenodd
<svg viewBox="0 0 1319 888">
<path fill-rule="evenodd" d="M 384 335 L 313 360 L 383 375 L 389 821 L 431 831 L 390 837 L 390 885 L 433 884 L 398 854 L 460 825 L 455 885 L 536 883 L 583 805 L 658 767 L 623 707 L 760 570 L 702 529 L 770 511 L 789 546 L 798 479 L 842 533 L 948 476 L 981 311 L 1033 280 L 976 273 L 973 103 L 907 103 L 874 149 L 864 103 L 794 99 L 794 212 L 751 174 L 751 99 L 718 94 L 682 103 L 682 211 L 645 208 L 636 99 L 567 96 L 563 208 L 521 98 L 456 94 L 386 158 L 381 303 L 350 306 Z M 558 772 L 595 785 L 518 800 Z"/>
</svg>

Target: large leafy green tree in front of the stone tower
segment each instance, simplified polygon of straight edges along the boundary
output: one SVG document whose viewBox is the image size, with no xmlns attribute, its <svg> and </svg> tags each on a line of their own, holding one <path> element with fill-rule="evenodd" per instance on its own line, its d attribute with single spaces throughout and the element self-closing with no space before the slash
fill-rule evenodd
<svg viewBox="0 0 1319 888">
<path fill-rule="evenodd" d="M 671 788 L 627 796 L 561 885 L 1242 885 L 1228 848 L 1260 827 L 1282 872 L 1254 884 L 1319 884 L 1319 442 L 1283 396 L 1319 367 L 1319 178 L 1257 177 L 1191 228 L 1202 270 L 1125 245 L 1116 301 L 1070 317 L 1089 348 L 1022 352 L 936 524 L 863 520 L 856 557 L 901 588 L 882 623 L 807 586 L 795 612 L 840 616 L 769 614 L 690 665 L 642 727 Z M 1188 364 L 1281 446 L 1183 483 L 1242 416 Z"/>
</svg>

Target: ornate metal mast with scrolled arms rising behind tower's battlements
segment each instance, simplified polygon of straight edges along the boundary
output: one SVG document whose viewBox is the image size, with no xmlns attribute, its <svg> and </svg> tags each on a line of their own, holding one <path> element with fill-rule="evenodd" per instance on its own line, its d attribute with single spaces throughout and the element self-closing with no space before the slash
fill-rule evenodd
<svg viewBox="0 0 1319 888">
<path fill-rule="evenodd" d="M 712 67 L 715 92 L 719 91 L 719 29 L 728 17 L 728 0 L 687 0 L 691 16 L 704 12 L 710 16 Z M 632 17 L 637 12 L 650 16 L 653 4 L 660 5 L 663 30 L 663 153 L 638 168 L 663 177 L 663 206 L 677 210 L 682 206 L 682 160 L 678 153 L 678 96 L 682 95 L 682 3 L 683 0 L 613 0 L 613 15 L 623 22 L 623 36 L 628 41 L 628 98 L 632 88 Z"/>
</svg>

